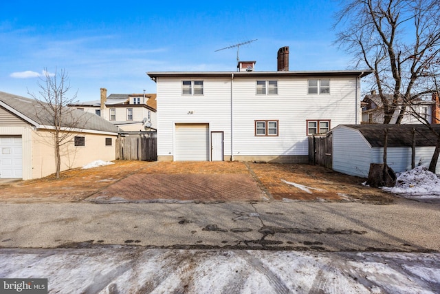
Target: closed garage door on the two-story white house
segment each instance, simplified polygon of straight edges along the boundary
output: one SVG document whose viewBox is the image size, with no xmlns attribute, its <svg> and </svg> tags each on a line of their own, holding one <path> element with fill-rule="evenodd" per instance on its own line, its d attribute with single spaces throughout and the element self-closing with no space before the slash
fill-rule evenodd
<svg viewBox="0 0 440 294">
<path fill-rule="evenodd" d="M 209 160 L 208 124 L 176 124 L 175 160 Z"/>
</svg>

